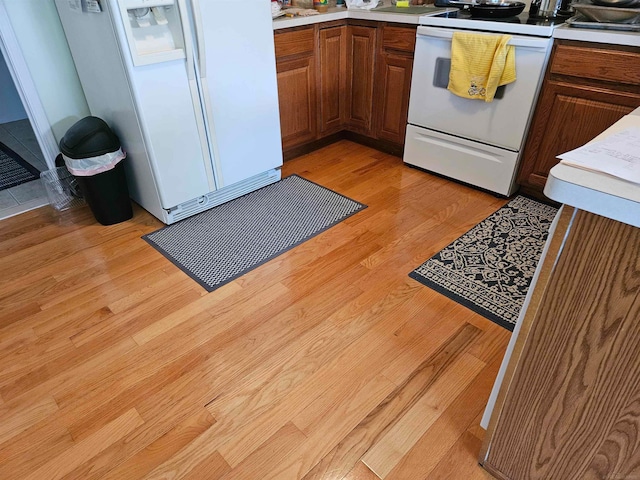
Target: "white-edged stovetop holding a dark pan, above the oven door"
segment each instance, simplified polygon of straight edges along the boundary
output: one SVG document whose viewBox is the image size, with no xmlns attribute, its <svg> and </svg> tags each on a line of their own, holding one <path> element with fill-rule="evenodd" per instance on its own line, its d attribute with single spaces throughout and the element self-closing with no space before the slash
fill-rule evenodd
<svg viewBox="0 0 640 480">
<path fill-rule="evenodd" d="M 553 30 L 564 21 L 564 19 L 533 18 L 528 12 L 507 18 L 478 18 L 472 17 L 466 10 L 460 10 L 432 17 L 421 17 L 420 25 L 551 37 Z"/>
</svg>

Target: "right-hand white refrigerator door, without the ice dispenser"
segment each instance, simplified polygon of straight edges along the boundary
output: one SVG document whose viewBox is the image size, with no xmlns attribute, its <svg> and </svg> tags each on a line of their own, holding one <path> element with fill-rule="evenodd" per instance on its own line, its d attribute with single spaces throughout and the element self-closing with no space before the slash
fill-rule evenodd
<svg viewBox="0 0 640 480">
<path fill-rule="evenodd" d="M 282 165 L 270 2 L 191 0 L 216 183 Z M 204 28 L 206 26 L 206 28 Z"/>
</svg>

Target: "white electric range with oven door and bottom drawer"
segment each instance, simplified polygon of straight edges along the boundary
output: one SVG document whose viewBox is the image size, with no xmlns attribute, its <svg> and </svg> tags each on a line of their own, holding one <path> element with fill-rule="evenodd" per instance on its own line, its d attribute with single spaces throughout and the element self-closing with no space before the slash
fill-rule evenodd
<svg viewBox="0 0 640 480">
<path fill-rule="evenodd" d="M 455 15 L 457 13 L 457 15 Z M 551 53 L 551 35 L 562 22 L 477 19 L 465 12 L 421 18 L 418 27 L 403 160 L 500 194 L 516 190 L 527 130 Z M 457 30 L 511 35 L 515 82 L 492 102 L 461 98 L 447 90 L 451 40 Z"/>
</svg>

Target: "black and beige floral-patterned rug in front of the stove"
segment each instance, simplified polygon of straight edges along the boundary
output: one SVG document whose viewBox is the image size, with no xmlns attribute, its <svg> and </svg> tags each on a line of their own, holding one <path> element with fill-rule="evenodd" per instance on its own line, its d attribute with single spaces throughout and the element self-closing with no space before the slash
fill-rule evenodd
<svg viewBox="0 0 640 480">
<path fill-rule="evenodd" d="M 517 196 L 409 276 L 513 331 L 557 211 Z"/>
</svg>

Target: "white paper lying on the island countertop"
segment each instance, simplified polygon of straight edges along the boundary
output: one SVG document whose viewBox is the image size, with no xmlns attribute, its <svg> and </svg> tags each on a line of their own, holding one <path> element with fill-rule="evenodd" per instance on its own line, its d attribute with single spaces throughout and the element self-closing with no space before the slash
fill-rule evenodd
<svg viewBox="0 0 640 480">
<path fill-rule="evenodd" d="M 640 184 L 640 128 L 626 128 L 603 140 L 558 155 L 561 163 Z"/>
</svg>

